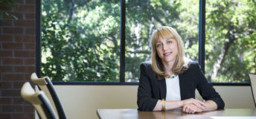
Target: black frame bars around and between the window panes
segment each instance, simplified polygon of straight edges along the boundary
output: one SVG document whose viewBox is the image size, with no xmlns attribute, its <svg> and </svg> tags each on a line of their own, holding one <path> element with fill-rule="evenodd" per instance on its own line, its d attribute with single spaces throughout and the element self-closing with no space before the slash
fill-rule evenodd
<svg viewBox="0 0 256 119">
<path fill-rule="evenodd" d="M 119 82 L 88 82 L 88 81 L 52 81 L 54 85 L 92 85 L 92 86 L 137 86 L 138 83 L 125 82 L 125 0 L 121 2 L 121 54 L 120 54 L 120 81 Z M 42 77 L 42 0 L 36 1 L 36 74 Z M 199 65 L 205 72 L 205 0 L 199 0 Z M 250 83 L 211 83 L 214 86 L 250 86 Z"/>
</svg>

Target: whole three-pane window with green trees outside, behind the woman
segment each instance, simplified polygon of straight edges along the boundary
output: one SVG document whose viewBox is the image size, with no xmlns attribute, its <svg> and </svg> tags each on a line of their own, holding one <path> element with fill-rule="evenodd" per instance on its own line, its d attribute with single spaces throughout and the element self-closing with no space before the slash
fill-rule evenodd
<svg viewBox="0 0 256 119">
<path fill-rule="evenodd" d="M 42 75 L 54 81 L 137 83 L 139 64 L 150 60 L 153 30 L 170 25 L 182 36 L 186 57 L 205 61 L 211 82 L 247 82 L 246 74 L 256 72 L 255 6 L 207 1 L 204 60 L 198 57 L 199 1 L 42 0 Z M 231 36 L 236 39 L 227 50 Z"/>
</svg>

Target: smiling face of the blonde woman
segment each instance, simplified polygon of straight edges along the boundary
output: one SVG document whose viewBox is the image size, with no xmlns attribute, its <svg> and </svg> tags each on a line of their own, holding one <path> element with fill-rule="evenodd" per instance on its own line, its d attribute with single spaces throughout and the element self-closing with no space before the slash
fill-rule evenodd
<svg viewBox="0 0 256 119">
<path fill-rule="evenodd" d="M 161 62 L 175 62 L 178 55 L 176 39 L 162 39 L 156 42 L 156 51 Z"/>
</svg>

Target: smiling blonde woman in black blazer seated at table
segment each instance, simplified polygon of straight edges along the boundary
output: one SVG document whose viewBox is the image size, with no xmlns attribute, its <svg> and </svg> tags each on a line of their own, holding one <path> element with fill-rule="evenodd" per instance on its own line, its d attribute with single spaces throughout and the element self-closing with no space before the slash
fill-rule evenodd
<svg viewBox="0 0 256 119">
<path fill-rule="evenodd" d="M 223 99 L 208 83 L 199 64 L 185 58 L 182 39 L 175 29 L 158 28 L 151 43 L 151 63 L 141 64 L 139 111 L 182 107 L 183 112 L 195 113 L 224 108 Z M 196 89 L 205 102 L 194 99 Z"/>
</svg>

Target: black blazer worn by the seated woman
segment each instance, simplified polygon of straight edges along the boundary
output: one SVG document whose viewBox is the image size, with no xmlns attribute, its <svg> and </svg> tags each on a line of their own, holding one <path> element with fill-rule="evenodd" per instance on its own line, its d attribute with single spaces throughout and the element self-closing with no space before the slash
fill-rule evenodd
<svg viewBox="0 0 256 119">
<path fill-rule="evenodd" d="M 190 62 L 189 67 L 179 74 L 181 100 L 195 98 L 196 89 L 204 100 L 213 100 L 217 109 L 223 109 L 225 103 L 211 83 L 208 83 L 197 62 Z M 158 80 L 150 62 L 141 64 L 141 76 L 138 85 L 138 110 L 153 111 L 158 100 L 166 97 L 165 79 Z"/>
</svg>

